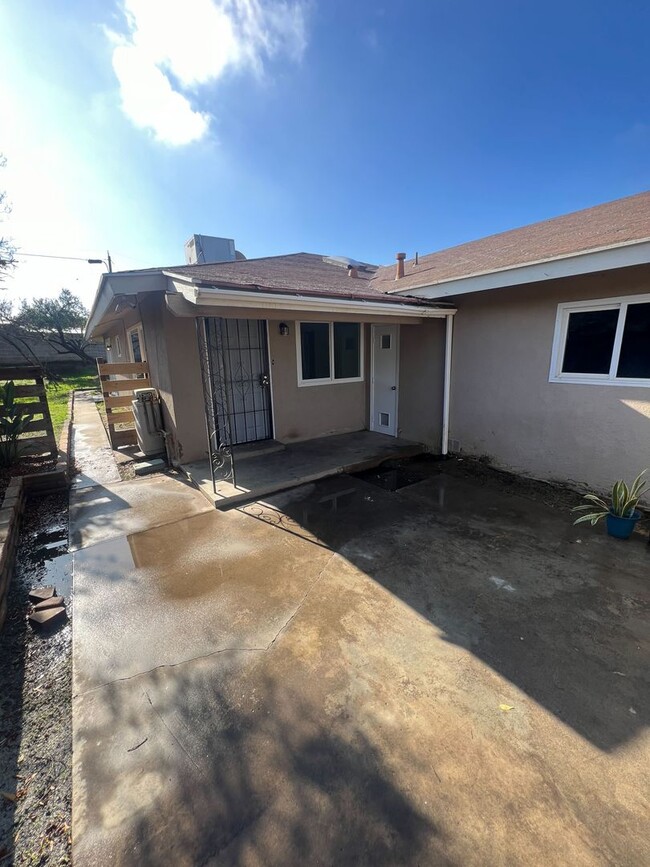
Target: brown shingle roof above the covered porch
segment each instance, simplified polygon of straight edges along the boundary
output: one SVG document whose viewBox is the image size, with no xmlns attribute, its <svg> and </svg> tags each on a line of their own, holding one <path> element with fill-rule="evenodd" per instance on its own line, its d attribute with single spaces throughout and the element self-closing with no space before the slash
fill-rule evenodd
<svg viewBox="0 0 650 867">
<path fill-rule="evenodd" d="M 180 265 L 165 268 L 167 274 L 191 278 L 203 285 L 249 289 L 259 292 L 318 295 L 362 301 L 423 303 L 423 299 L 390 298 L 371 286 L 376 265 L 365 265 L 358 277 L 348 276 L 344 264 L 328 261 L 314 253 L 291 253 L 262 259 L 242 259 L 209 265 Z"/>
</svg>

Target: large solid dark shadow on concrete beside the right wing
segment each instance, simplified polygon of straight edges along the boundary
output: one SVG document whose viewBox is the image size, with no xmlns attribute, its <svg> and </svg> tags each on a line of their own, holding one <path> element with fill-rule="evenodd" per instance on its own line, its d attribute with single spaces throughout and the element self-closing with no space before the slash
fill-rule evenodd
<svg viewBox="0 0 650 867">
<path fill-rule="evenodd" d="M 634 738 L 650 722 L 630 628 L 648 610 L 646 540 L 575 528 L 516 484 L 419 469 L 395 492 L 341 476 L 244 511 L 339 552 L 599 749 Z"/>
</svg>

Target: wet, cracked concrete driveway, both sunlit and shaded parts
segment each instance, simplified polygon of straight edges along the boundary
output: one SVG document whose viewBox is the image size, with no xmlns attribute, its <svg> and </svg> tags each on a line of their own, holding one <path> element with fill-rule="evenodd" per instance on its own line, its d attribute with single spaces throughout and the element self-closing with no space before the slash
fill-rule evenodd
<svg viewBox="0 0 650 867">
<path fill-rule="evenodd" d="M 413 472 L 78 509 L 78 867 L 650 863 L 647 546 Z"/>
</svg>

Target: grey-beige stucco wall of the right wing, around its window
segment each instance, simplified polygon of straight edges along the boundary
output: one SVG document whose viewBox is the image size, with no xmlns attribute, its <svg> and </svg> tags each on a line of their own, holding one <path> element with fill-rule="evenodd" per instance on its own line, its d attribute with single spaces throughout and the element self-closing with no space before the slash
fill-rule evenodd
<svg viewBox="0 0 650 867">
<path fill-rule="evenodd" d="M 648 266 L 454 299 L 451 439 L 600 489 L 649 466 L 650 389 L 548 381 L 558 303 L 638 293 L 650 293 Z"/>
</svg>

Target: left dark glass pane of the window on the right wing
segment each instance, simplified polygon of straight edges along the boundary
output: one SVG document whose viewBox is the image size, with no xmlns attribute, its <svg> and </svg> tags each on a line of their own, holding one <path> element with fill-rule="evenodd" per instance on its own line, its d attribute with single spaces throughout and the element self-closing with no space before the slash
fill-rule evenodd
<svg viewBox="0 0 650 867">
<path fill-rule="evenodd" d="M 562 373 L 609 373 L 618 315 L 618 309 L 569 314 Z"/>
</svg>

